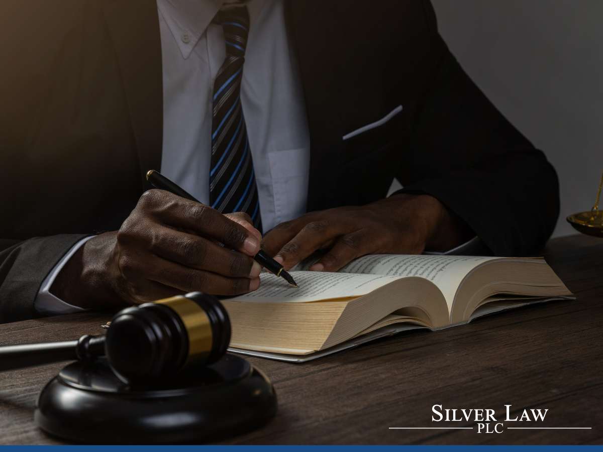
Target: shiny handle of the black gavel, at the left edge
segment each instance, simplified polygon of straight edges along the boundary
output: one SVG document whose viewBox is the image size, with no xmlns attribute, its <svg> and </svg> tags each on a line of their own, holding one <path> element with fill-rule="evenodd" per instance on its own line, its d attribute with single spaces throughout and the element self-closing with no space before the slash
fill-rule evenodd
<svg viewBox="0 0 603 452">
<path fill-rule="evenodd" d="M 104 336 L 86 334 L 77 341 L 0 347 L 0 372 L 59 361 L 92 359 L 104 354 L 104 339 Z"/>
</svg>

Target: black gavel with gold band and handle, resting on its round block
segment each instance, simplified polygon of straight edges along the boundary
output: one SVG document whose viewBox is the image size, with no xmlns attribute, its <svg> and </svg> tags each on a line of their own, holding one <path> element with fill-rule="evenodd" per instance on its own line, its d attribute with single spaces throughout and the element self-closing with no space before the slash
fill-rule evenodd
<svg viewBox="0 0 603 452">
<path fill-rule="evenodd" d="M 211 295 L 191 292 L 122 309 L 104 336 L 0 347 L 0 371 L 104 356 L 122 380 L 146 383 L 216 362 L 229 343 L 224 306 Z"/>
</svg>

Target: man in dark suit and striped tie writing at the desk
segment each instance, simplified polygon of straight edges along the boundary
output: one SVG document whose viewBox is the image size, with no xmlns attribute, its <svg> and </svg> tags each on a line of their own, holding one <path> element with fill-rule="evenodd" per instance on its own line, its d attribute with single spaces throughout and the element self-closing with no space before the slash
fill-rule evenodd
<svg viewBox="0 0 603 452">
<path fill-rule="evenodd" d="M 428 0 L 190 4 L 2 4 L 0 321 L 247 292 L 260 239 L 285 268 L 323 248 L 314 269 L 335 271 L 550 236 L 554 169 Z M 145 192 L 158 168 L 210 207 Z"/>
</svg>

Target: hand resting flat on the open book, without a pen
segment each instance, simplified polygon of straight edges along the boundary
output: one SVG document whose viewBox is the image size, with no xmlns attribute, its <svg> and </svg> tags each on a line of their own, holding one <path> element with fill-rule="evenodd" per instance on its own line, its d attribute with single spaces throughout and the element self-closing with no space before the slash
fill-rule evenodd
<svg viewBox="0 0 603 452">
<path fill-rule="evenodd" d="M 326 249 L 310 270 L 338 271 L 366 254 L 449 250 L 471 234 L 434 197 L 400 193 L 366 206 L 311 212 L 279 224 L 265 235 L 262 248 L 285 269 Z"/>
</svg>

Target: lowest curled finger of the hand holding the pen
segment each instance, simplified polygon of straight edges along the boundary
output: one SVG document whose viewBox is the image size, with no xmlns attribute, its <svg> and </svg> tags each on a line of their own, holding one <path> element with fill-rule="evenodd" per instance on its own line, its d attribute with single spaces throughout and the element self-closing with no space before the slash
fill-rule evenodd
<svg viewBox="0 0 603 452">
<path fill-rule="evenodd" d="M 241 295 L 256 290 L 260 278 L 228 278 L 213 272 L 188 268 L 169 260 L 155 257 L 144 268 L 151 281 L 174 287 L 183 292 L 211 293 L 212 295 Z"/>
</svg>

